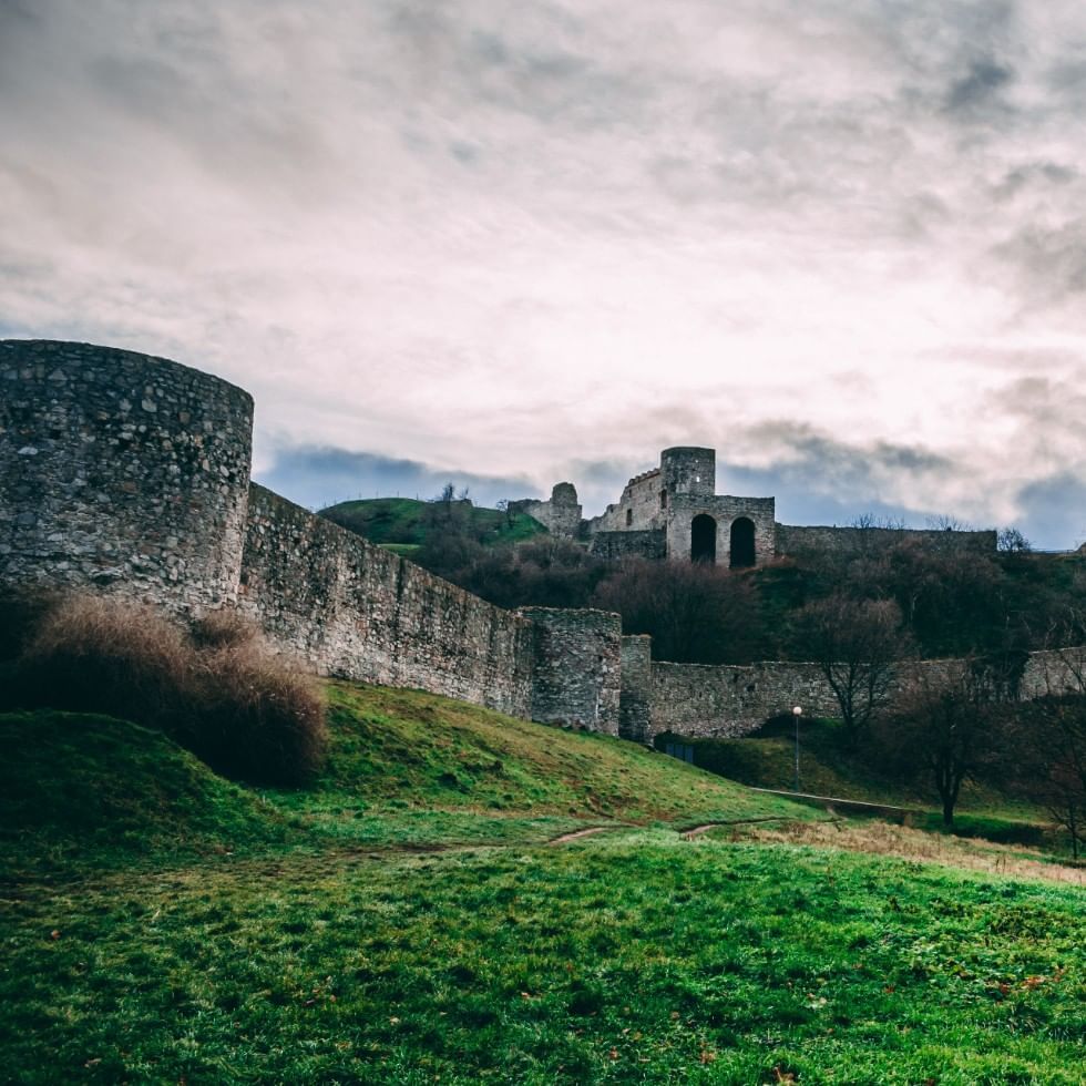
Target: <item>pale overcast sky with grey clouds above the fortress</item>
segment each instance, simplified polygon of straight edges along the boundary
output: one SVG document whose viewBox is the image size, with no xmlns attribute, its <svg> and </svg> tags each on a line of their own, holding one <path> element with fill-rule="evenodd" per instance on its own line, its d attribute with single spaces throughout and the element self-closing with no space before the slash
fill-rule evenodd
<svg viewBox="0 0 1086 1086">
<path fill-rule="evenodd" d="M 1069 547 L 1080 0 L 0 0 L 0 336 L 242 385 L 304 504 L 709 444 Z"/>
</svg>

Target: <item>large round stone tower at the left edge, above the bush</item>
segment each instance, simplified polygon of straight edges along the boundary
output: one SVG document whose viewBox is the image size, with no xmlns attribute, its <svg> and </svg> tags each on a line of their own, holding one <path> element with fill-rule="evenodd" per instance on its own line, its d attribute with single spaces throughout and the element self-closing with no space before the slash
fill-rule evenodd
<svg viewBox="0 0 1086 1086">
<path fill-rule="evenodd" d="M 164 358 L 0 341 L 0 584 L 237 595 L 253 398 Z"/>
</svg>

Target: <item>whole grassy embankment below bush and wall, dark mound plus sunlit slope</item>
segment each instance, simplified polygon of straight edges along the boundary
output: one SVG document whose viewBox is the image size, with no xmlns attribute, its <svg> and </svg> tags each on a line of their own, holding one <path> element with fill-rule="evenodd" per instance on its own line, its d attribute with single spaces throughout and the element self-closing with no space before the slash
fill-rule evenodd
<svg viewBox="0 0 1086 1086">
<path fill-rule="evenodd" d="M 288 844 L 545 841 L 612 820 L 814 817 L 615 739 L 414 690 L 329 684 L 328 696 L 325 772 L 265 792 L 127 721 L 0 715 L 3 864 L 60 872 Z"/>
</svg>

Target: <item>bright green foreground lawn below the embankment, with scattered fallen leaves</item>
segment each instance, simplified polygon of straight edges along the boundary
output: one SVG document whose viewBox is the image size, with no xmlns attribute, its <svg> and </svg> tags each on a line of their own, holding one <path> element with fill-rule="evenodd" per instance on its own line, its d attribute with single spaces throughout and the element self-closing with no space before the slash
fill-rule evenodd
<svg viewBox="0 0 1086 1086">
<path fill-rule="evenodd" d="M 4 1072 L 1078 1083 L 1082 904 L 664 831 L 31 889 L 0 904 Z"/>
</svg>

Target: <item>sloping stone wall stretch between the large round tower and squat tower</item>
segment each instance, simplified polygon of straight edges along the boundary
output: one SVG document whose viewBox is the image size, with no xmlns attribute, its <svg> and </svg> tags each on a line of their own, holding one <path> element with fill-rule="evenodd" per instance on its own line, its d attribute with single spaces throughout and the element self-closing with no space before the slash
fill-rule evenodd
<svg viewBox="0 0 1086 1086">
<path fill-rule="evenodd" d="M 324 674 L 530 716 L 530 622 L 255 483 L 239 605 Z"/>
</svg>

